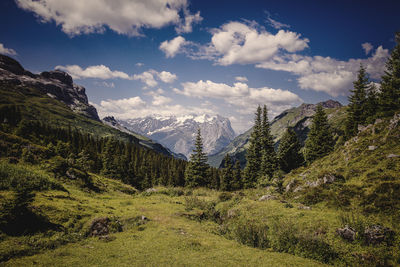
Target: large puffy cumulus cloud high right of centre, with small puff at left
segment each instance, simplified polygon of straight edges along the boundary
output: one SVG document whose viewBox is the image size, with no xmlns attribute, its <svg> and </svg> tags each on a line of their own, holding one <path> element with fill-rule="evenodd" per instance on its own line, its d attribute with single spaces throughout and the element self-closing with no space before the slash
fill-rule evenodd
<svg viewBox="0 0 400 267">
<path fill-rule="evenodd" d="M 229 22 L 211 30 L 211 41 L 200 45 L 176 37 L 164 41 L 160 49 L 167 57 L 178 53 L 192 59 L 214 60 L 219 65 L 256 64 L 279 53 L 294 53 L 308 47 L 309 40 L 300 34 L 279 30 L 270 33 L 255 22 Z"/>
</svg>

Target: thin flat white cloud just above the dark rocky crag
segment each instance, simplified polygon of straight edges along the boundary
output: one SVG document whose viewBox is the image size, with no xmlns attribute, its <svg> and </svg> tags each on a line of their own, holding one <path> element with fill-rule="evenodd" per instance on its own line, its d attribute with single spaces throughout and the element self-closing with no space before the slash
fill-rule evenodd
<svg viewBox="0 0 400 267">
<path fill-rule="evenodd" d="M 84 78 L 98 78 L 98 79 L 128 79 L 131 77 L 122 71 L 112 71 L 109 67 L 104 65 L 89 66 L 86 69 L 82 69 L 78 65 L 67 65 L 67 66 L 56 66 L 55 69 L 68 72 L 74 79 Z"/>
</svg>

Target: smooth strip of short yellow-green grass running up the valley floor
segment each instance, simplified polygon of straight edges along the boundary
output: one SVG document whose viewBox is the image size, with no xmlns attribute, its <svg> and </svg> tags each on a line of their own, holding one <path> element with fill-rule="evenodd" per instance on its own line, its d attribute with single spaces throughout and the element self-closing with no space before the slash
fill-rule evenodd
<svg viewBox="0 0 400 267">
<path fill-rule="evenodd" d="M 127 219 L 144 215 L 150 221 L 126 227 L 113 234 L 115 239 L 109 242 L 86 238 L 34 256 L 12 259 L 4 266 L 321 266 L 290 254 L 241 245 L 213 233 L 215 224 L 179 215 L 184 212 L 184 197 L 76 193 L 76 201 L 95 207 L 96 217 L 112 214 Z M 39 197 L 38 203 L 48 205 L 48 201 L 44 202 L 46 197 L 49 194 Z M 62 204 L 66 209 L 75 205 L 72 200 L 54 201 L 59 203 L 52 205 Z"/>
</svg>

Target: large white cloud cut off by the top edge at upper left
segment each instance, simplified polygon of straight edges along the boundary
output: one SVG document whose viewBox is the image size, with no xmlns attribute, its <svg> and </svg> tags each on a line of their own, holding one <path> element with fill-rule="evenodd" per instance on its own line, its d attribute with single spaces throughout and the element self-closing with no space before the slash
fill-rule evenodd
<svg viewBox="0 0 400 267">
<path fill-rule="evenodd" d="M 143 28 L 162 28 L 174 24 L 179 32 L 189 32 L 201 21 L 190 14 L 186 0 L 16 0 L 17 5 L 35 13 L 42 22 L 54 21 L 73 36 L 101 33 L 106 27 L 130 36 L 141 35 Z M 180 14 L 184 14 L 184 18 Z"/>
</svg>

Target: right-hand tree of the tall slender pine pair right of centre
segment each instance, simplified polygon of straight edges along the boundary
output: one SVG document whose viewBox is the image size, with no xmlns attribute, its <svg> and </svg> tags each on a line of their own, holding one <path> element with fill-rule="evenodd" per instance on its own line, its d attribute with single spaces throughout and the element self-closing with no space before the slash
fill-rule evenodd
<svg viewBox="0 0 400 267">
<path fill-rule="evenodd" d="M 268 120 L 267 106 L 264 105 L 261 122 L 261 166 L 260 176 L 271 179 L 276 170 L 277 160 L 274 149 L 274 138 Z"/>
</svg>

